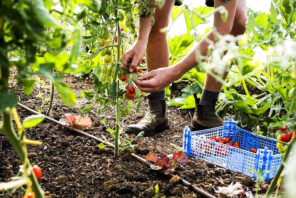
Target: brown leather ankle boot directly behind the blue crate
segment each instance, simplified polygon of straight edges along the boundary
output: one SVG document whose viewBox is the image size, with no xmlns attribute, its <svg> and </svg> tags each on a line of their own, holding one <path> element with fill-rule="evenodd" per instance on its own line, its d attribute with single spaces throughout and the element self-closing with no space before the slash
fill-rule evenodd
<svg viewBox="0 0 296 198">
<path fill-rule="evenodd" d="M 223 120 L 216 114 L 214 102 L 200 104 L 200 98 L 197 98 L 196 93 L 193 94 L 195 99 L 195 112 L 192 119 L 191 131 L 205 130 L 223 126 Z"/>
</svg>

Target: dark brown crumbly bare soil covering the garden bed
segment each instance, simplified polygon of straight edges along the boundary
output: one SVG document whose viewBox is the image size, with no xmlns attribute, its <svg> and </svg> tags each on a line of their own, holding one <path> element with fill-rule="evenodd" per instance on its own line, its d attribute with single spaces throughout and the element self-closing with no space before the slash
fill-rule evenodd
<svg viewBox="0 0 296 198">
<path fill-rule="evenodd" d="M 15 71 L 14 71 L 15 72 Z M 43 82 L 44 81 L 44 82 Z M 66 75 L 63 82 L 67 83 L 75 92 L 80 94 L 83 90 L 92 90 L 92 79 L 87 75 L 78 78 Z M 40 86 L 44 84 L 44 87 Z M 180 83 L 171 87 L 174 96 L 181 95 L 181 89 L 187 83 Z M 39 86 L 39 87 L 38 87 Z M 181 87 L 180 87 L 181 86 Z M 22 94 L 22 88 L 15 87 L 15 81 L 11 81 L 11 89 L 20 95 L 20 103 L 37 110 L 49 94 L 49 81 L 41 76 L 41 81 L 35 84 L 30 97 Z M 39 98 L 36 95 L 41 95 Z M 90 102 L 86 98 L 79 98 L 77 103 L 83 108 Z M 42 111 L 46 111 L 48 102 Z M 121 127 L 125 129 L 128 124 L 139 122 L 147 108 L 147 99 L 139 113 L 133 113 L 121 120 Z M 97 108 L 96 108 L 97 109 Z M 87 115 L 93 121 L 93 126 L 86 130 L 91 135 L 101 138 L 104 135 L 110 138 L 100 120 L 105 121 L 110 127 L 115 127 L 115 109 L 112 108 L 102 114 L 97 114 L 96 109 Z M 30 113 L 17 107 L 20 119 L 29 116 Z M 65 113 L 79 114 L 77 108 L 68 108 L 59 98 L 56 91 L 51 117 L 59 120 Z M 136 142 L 135 154 L 144 157 L 149 152 L 157 154 L 175 153 L 176 149 L 169 145 L 174 143 L 182 146 L 183 128 L 191 125 L 192 112 L 178 110 L 176 107 L 167 107 L 167 116 L 170 129 L 153 137 L 142 137 Z M 121 134 L 130 139 L 133 136 Z M 86 137 L 79 136 L 56 124 L 44 121 L 37 127 L 27 130 L 27 138 L 43 142 L 41 146 L 28 145 L 28 157 L 31 163 L 35 163 L 43 170 L 40 185 L 47 197 L 152 197 L 154 186 L 160 187 L 159 196 L 164 197 L 200 197 L 194 194 L 188 186 L 180 182 L 170 183 L 168 178 L 156 173 L 149 167 L 136 162 L 132 158 L 123 157 L 115 159 L 110 148 L 98 149 L 97 143 Z M 4 133 L 0 133 L 0 182 L 9 181 L 19 170 L 21 162 L 17 152 L 13 149 Z M 226 170 L 222 167 L 189 157 L 188 164 L 178 166 L 174 174 L 193 183 L 195 186 L 216 195 L 218 186 L 228 186 L 231 182 L 242 183 L 245 190 L 255 193 L 255 180 L 237 172 Z M 268 183 L 263 182 L 259 193 L 265 193 Z M 0 191 L 0 197 L 16 197 Z"/>
</svg>

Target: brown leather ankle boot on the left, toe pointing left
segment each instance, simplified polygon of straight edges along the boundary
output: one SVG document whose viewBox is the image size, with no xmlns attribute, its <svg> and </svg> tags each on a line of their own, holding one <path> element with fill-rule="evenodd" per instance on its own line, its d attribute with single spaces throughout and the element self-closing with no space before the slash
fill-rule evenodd
<svg viewBox="0 0 296 198">
<path fill-rule="evenodd" d="M 126 133 L 138 135 L 144 131 L 144 136 L 149 136 L 169 128 L 168 117 L 165 114 L 165 100 L 152 100 L 151 95 L 148 95 L 148 99 L 150 115 L 146 115 L 138 124 L 128 125 Z M 148 118 L 151 115 L 155 117 L 149 122 Z"/>
</svg>

